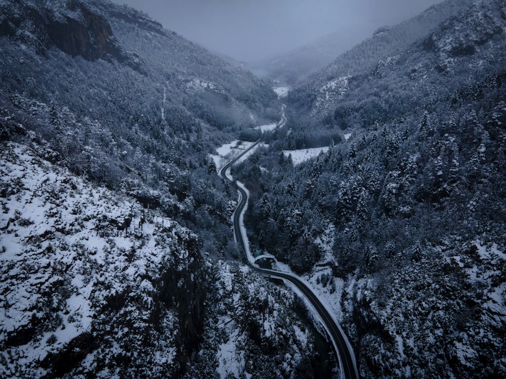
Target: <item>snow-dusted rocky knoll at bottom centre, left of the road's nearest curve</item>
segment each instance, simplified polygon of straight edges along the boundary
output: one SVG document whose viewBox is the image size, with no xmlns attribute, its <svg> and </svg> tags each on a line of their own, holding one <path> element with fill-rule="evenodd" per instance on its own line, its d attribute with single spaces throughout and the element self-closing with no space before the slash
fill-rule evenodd
<svg viewBox="0 0 506 379">
<path fill-rule="evenodd" d="M 212 335 L 218 348 L 212 358 L 219 377 L 248 378 L 253 373 L 256 377 L 293 377 L 303 355 L 314 351 L 309 329 L 289 311 L 295 300 L 293 292 L 262 280 L 248 266 L 219 261 L 215 267 L 219 299 Z M 249 342 L 251 328 L 256 330 L 252 338 L 272 362 L 271 369 L 267 368 L 270 363 L 256 362 L 258 353 L 251 354 L 255 346 Z M 267 372 L 262 373 L 263 369 Z"/>
</svg>

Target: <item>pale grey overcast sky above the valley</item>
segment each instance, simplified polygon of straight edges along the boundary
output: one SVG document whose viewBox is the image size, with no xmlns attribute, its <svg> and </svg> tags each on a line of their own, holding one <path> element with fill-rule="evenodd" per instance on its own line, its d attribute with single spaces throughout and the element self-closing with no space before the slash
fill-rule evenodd
<svg viewBox="0 0 506 379">
<path fill-rule="evenodd" d="M 362 40 L 441 0 L 113 0 L 149 14 L 165 29 L 247 62 L 272 57 L 321 35 Z"/>
</svg>

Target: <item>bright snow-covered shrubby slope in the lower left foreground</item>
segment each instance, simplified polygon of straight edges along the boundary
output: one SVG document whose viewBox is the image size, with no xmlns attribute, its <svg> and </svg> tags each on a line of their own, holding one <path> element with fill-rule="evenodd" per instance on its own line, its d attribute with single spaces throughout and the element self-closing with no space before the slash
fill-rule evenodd
<svg viewBox="0 0 506 379">
<path fill-rule="evenodd" d="M 0 377 L 44 376 L 55 356 L 92 338 L 99 346 L 82 356 L 81 372 L 110 377 L 97 365 L 112 355 L 131 354 L 141 354 L 150 369 L 163 366 L 170 372 L 177 351 L 176 313 L 158 313 L 162 335 L 148 349 L 140 343 L 153 329 L 161 275 L 185 272 L 194 259 L 181 242 L 192 234 L 133 199 L 118 198 L 41 160 L 31 148 L 5 147 Z M 41 362 L 48 362 L 46 368 Z"/>
</svg>

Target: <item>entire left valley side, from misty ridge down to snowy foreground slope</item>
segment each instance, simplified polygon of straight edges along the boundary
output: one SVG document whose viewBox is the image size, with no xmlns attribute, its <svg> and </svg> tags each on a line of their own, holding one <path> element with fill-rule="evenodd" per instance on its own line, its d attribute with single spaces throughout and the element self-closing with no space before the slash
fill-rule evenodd
<svg viewBox="0 0 506 379">
<path fill-rule="evenodd" d="M 293 294 L 220 261 L 209 154 L 278 121 L 270 84 L 99 0 L 0 1 L 0 52 L 0 376 L 307 377 Z"/>
</svg>

